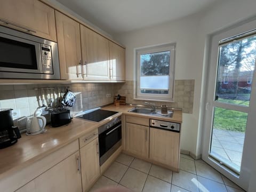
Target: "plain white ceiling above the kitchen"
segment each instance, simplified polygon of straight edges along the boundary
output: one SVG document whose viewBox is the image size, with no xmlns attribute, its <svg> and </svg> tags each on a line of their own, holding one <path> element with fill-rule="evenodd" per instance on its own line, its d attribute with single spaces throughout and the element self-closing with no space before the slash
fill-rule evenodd
<svg viewBox="0 0 256 192">
<path fill-rule="evenodd" d="M 57 0 L 110 34 L 186 17 L 218 0 Z"/>
</svg>

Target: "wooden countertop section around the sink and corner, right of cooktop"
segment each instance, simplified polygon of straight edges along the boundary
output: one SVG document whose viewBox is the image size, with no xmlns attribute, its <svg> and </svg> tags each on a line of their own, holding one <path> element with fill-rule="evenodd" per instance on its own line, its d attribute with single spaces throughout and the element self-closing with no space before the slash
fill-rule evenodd
<svg viewBox="0 0 256 192">
<path fill-rule="evenodd" d="M 173 113 L 172 117 L 164 117 L 164 116 L 161 117 L 161 116 L 158 116 L 158 115 L 128 112 L 130 109 L 132 109 L 134 107 L 135 106 L 131 106 L 131 105 L 120 105 L 118 107 L 115 106 L 115 105 L 109 105 L 109 106 L 103 107 L 102 109 L 122 112 L 123 115 L 130 115 L 130 116 L 137 116 L 137 117 L 147 117 L 147 118 L 158 119 L 158 120 L 162 120 L 162 121 L 182 123 L 182 111 L 181 110 L 173 110 L 174 113 Z"/>
</svg>

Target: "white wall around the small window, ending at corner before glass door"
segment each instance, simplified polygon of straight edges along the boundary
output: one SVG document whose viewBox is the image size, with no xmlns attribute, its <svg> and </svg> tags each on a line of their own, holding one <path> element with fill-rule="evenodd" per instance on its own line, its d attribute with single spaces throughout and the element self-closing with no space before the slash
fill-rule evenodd
<svg viewBox="0 0 256 192">
<path fill-rule="evenodd" d="M 195 55 L 199 15 L 162 23 L 118 36 L 118 41 L 126 46 L 126 80 L 134 80 L 134 48 L 177 43 L 175 59 L 175 79 L 195 79 L 193 114 L 183 114 L 181 149 L 196 154 L 201 70 L 197 70 Z"/>
</svg>

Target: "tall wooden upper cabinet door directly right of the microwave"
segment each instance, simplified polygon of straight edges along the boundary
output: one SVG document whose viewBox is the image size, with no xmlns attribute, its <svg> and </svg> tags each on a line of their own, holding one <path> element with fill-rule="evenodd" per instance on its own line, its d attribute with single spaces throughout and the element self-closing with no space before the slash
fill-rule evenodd
<svg viewBox="0 0 256 192">
<path fill-rule="evenodd" d="M 79 23 L 55 11 L 61 79 L 82 80 Z"/>
</svg>

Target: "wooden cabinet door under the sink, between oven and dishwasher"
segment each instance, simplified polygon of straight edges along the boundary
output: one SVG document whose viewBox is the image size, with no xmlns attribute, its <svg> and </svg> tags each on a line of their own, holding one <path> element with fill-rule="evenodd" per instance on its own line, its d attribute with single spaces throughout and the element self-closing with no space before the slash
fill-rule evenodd
<svg viewBox="0 0 256 192">
<path fill-rule="evenodd" d="M 149 127 L 126 123 L 125 129 L 126 151 L 143 158 L 148 158 Z"/>
</svg>

